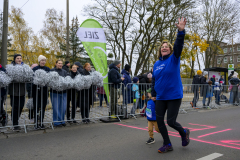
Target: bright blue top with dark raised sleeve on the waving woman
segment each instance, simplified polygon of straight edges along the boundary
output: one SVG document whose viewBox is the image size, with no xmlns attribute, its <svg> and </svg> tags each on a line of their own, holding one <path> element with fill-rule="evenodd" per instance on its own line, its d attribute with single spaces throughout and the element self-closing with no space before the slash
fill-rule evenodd
<svg viewBox="0 0 240 160">
<path fill-rule="evenodd" d="M 173 54 L 160 57 L 154 64 L 152 74 L 152 96 L 157 100 L 183 98 L 180 75 L 180 55 L 184 44 L 185 30 L 179 31 L 174 43 Z"/>
</svg>

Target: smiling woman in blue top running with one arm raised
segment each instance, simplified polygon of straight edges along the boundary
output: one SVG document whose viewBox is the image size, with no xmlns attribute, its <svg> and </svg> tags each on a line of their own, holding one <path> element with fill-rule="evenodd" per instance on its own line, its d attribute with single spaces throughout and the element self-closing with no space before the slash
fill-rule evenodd
<svg viewBox="0 0 240 160">
<path fill-rule="evenodd" d="M 168 41 L 163 41 L 158 50 L 159 60 L 154 64 L 152 76 L 152 100 L 156 101 L 156 119 L 163 137 L 163 146 L 159 153 L 172 151 L 173 147 L 164 123 L 167 111 L 167 123 L 179 132 L 182 146 L 189 144 L 190 131 L 176 122 L 178 111 L 183 98 L 183 87 L 180 76 L 180 56 L 184 44 L 186 18 L 178 19 L 177 39 L 174 48 Z"/>
</svg>

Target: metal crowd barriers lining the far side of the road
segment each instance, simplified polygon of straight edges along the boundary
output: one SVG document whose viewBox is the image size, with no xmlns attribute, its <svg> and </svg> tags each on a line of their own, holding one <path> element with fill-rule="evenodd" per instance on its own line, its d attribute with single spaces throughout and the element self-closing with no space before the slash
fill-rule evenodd
<svg viewBox="0 0 240 160">
<path fill-rule="evenodd" d="M 106 85 L 109 86 L 110 97 L 106 96 L 103 87 L 97 86 L 81 91 L 70 89 L 56 92 L 31 82 L 12 83 L 7 90 L 7 95 L 10 96 L 2 97 L 0 92 L 1 105 L 3 104 L 0 108 L 0 129 L 22 127 L 27 132 L 34 127 L 44 129 L 47 126 L 54 129 L 54 126 L 65 126 L 66 122 L 89 123 L 104 117 L 120 120 L 122 117 L 137 118 L 136 115 L 144 114 L 149 100 L 146 90 L 151 84 Z M 229 102 L 235 104 L 237 101 L 238 104 L 238 87 L 231 86 L 231 91 L 226 92 L 228 88 L 229 86 L 183 84 L 183 99 L 179 112 L 187 113 L 192 109 L 191 104 L 206 109 L 218 108 L 220 103 L 229 105 Z M 201 96 L 204 93 L 205 95 Z M 227 98 L 229 94 L 233 99 Z M 204 106 L 202 101 L 206 98 L 209 101 Z"/>
</svg>

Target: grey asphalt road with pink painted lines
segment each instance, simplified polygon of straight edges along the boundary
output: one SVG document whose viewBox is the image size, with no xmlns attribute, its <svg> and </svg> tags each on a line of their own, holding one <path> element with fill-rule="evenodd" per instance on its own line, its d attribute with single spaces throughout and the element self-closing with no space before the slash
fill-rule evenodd
<svg viewBox="0 0 240 160">
<path fill-rule="evenodd" d="M 189 146 L 173 129 L 169 134 L 173 151 L 157 152 L 161 135 L 147 145 L 147 120 L 143 117 L 119 123 L 80 124 L 27 134 L 0 135 L 0 159 L 81 159 L 81 160 L 239 160 L 240 107 L 179 114 L 178 122 L 191 130 Z"/>
</svg>

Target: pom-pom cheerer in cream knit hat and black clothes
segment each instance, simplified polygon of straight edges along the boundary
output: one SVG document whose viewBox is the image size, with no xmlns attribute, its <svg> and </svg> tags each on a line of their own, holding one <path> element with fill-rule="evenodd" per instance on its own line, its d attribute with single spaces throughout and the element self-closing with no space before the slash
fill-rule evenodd
<svg viewBox="0 0 240 160">
<path fill-rule="evenodd" d="M 33 72 L 36 72 L 39 69 L 50 72 L 50 68 L 46 67 L 47 58 L 43 55 L 38 57 L 38 66 L 33 68 Z M 45 110 L 48 101 L 48 87 L 47 86 L 38 86 L 34 85 L 32 87 L 32 95 L 33 95 L 33 108 L 34 108 L 34 122 L 35 129 L 45 129 L 43 124 Z M 40 120 L 40 124 L 38 123 L 38 119 Z"/>
</svg>

